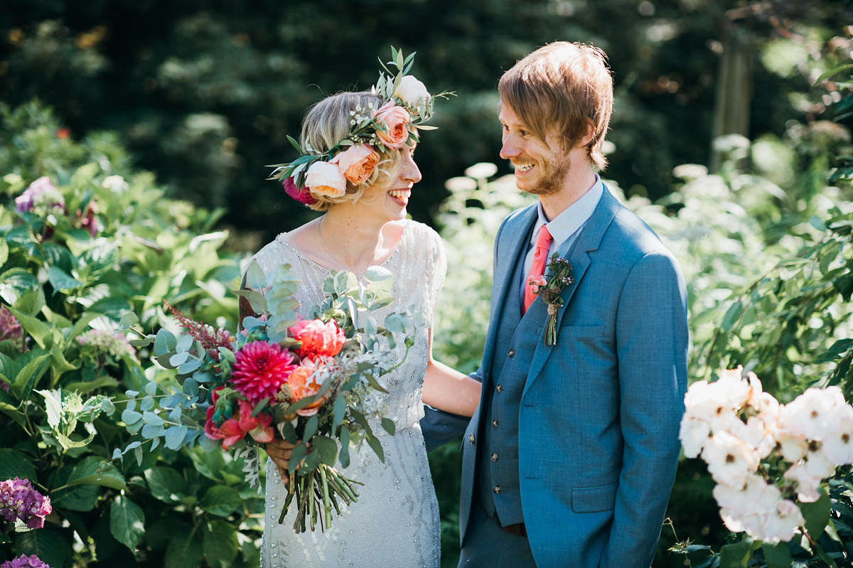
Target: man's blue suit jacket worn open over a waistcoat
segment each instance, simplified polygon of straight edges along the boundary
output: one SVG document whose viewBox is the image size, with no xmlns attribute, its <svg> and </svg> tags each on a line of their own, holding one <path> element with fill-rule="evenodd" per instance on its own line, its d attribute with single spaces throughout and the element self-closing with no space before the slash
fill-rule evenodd
<svg viewBox="0 0 853 568">
<path fill-rule="evenodd" d="M 489 331 L 479 379 L 490 368 L 514 263 L 536 206 L 510 215 L 495 242 Z M 647 568 L 675 478 L 687 388 L 684 281 L 652 229 L 605 190 L 570 261 L 556 345 L 544 345 L 547 309 L 537 300 L 539 340 L 519 353 L 530 370 L 519 404 L 521 504 L 537 565 Z M 480 408 L 483 407 L 481 397 Z M 470 518 L 481 416 L 463 438 L 460 534 Z"/>
</svg>

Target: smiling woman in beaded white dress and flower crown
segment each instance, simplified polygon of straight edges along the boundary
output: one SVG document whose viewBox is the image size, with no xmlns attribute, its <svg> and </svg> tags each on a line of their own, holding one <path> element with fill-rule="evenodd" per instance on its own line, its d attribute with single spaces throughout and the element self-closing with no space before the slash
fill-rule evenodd
<svg viewBox="0 0 853 568">
<path fill-rule="evenodd" d="M 266 272 L 291 265 L 301 281 L 300 316 L 322 301 L 330 270 L 361 277 L 381 265 L 394 275 L 395 301 L 376 314 L 380 321 L 409 305 L 421 306 L 427 322 L 432 317 L 444 283 L 444 248 L 435 231 L 406 218 L 406 206 L 421 180 L 413 157 L 417 125 L 432 114 L 433 97 L 417 79 L 403 72 L 397 79 L 380 78 L 373 91 L 318 102 L 303 121 L 300 158 L 279 169 L 287 194 L 325 212 L 278 235 L 254 256 Z M 401 348 L 397 345 L 400 358 Z M 480 385 L 432 358 L 432 328 L 418 332 L 403 365 L 383 379 L 388 417 L 397 431 L 392 436 L 374 427 L 385 461 L 369 449 L 359 452 L 344 472 L 364 483 L 358 501 L 343 507 L 326 530 L 295 533 L 295 507 L 278 523 L 291 446 L 280 439 L 267 444 L 263 568 L 438 567 L 438 503 L 418 421 L 423 403 L 470 416 Z"/>
</svg>

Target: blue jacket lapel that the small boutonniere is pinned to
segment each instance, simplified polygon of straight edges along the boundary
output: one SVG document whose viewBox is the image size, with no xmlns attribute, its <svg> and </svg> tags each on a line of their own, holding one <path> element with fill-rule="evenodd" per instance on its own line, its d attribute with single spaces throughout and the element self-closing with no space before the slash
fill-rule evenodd
<svg viewBox="0 0 853 568">
<path fill-rule="evenodd" d="M 595 206 L 595 211 L 592 213 L 592 216 L 589 217 L 589 221 L 586 226 L 581 231 L 580 235 L 577 235 L 577 241 L 575 241 L 574 246 L 572 246 L 572 251 L 569 253 L 569 262 L 572 263 L 572 277 L 574 278 L 574 283 L 571 286 L 567 286 L 563 289 L 563 292 L 560 294 L 560 297 L 563 298 L 563 305 L 560 306 L 560 310 L 557 312 L 557 330 L 559 333 L 560 323 L 563 321 L 563 316 L 566 314 L 566 307 L 572 301 L 572 297 L 574 296 L 575 290 L 577 287 L 581 285 L 583 281 L 583 275 L 586 274 L 587 269 L 589 269 L 589 265 L 592 264 L 593 258 L 590 256 L 590 252 L 595 252 L 598 250 L 601 245 L 601 239 L 604 237 L 604 234 L 607 228 L 612 223 L 613 217 L 616 216 L 616 212 L 620 207 L 618 200 L 613 197 L 605 186 L 604 193 L 601 194 L 601 200 L 599 200 L 598 205 Z M 537 302 L 540 304 L 537 307 L 537 316 L 540 316 L 544 319 L 548 317 L 548 310 L 545 307 L 544 302 Z M 531 307 L 531 310 L 533 308 Z M 531 314 L 532 315 L 532 314 Z M 525 384 L 525 393 L 527 389 L 530 388 L 533 380 L 536 380 L 540 371 L 542 371 L 545 362 L 548 361 L 548 356 L 551 354 L 551 351 L 554 349 L 554 345 L 545 345 L 545 326 L 542 327 L 542 333 L 539 334 L 539 342 L 537 343 L 537 350 L 533 353 L 533 359 L 531 360 L 531 368 L 530 373 L 527 374 L 527 382 Z M 524 393 L 522 393 L 524 396 Z"/>
</svg>

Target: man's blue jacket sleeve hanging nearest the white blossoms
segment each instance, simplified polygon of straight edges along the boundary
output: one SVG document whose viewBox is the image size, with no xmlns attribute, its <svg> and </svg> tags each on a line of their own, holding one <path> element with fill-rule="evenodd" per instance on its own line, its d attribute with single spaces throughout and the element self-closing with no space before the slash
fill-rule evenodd
<svg viewBox="0 0 853 568">
<path fill-rule="evenodd" d="M 602 568 L 652 563 L 676 475 L 687 388 L 684 280 L 674 258 L 652 252 L 625 283 L 617 316 L 622 472 Z"/>
</svg>

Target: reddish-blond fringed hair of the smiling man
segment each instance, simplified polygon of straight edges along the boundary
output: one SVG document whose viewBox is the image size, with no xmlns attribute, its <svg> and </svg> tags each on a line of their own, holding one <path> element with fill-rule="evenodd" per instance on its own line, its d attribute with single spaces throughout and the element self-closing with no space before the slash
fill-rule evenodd
<svg viewBox="0 0 853 568">
<path fill-rule="evenodd" d="M 548 43 L 503 74 L 497 85 L 501 104 L 545 142 L 548 132 L 572 148 L 594 131 L 587 146 L 590 161 L 603 170 L 601 144 L 613 109 L 613 78 L 604 51 L 586 43 Z M 552 130 L 554 129 L 554 130 Z"/>
</svg>

